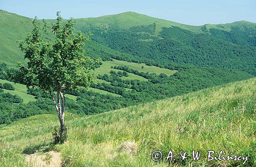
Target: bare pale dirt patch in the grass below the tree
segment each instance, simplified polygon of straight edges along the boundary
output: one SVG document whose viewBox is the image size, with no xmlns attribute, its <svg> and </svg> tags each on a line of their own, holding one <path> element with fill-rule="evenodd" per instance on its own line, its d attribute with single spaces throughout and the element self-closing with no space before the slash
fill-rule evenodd
<svg viewBox="0 0 256 167">
<path fill-rule="evenodd" d="M 56 151 L 26 155 L 25 161 L 28 162 L 30 165 L 36 167 L 62 166 L 60 153 Z"/>
</svg>

